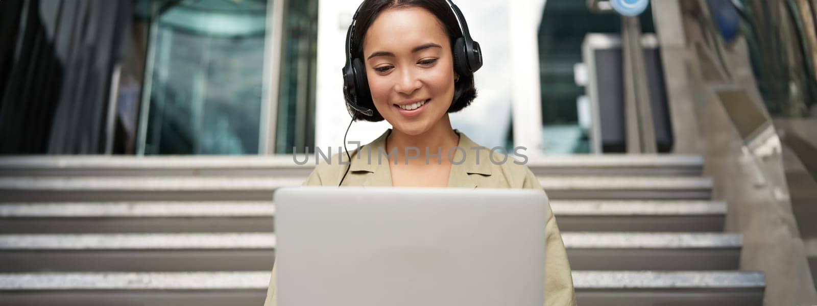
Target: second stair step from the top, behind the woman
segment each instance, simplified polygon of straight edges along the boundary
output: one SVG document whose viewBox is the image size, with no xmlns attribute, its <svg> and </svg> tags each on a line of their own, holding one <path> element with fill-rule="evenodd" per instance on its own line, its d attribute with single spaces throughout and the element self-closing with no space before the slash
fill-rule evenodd
<svg viewBox="0 0 817 306">
<path fill-rule="evenodd" d="M 269 201 L 294 177 L 0 177 L 3 202 Z M 703 177 L 549 176 L 538 178 L 551 199 L 708 199 Z"/>
</svg>

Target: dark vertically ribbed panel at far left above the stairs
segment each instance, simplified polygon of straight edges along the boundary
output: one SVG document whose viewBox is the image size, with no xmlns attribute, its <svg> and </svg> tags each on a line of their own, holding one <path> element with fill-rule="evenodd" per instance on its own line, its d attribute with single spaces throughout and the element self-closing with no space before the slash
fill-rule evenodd
<svg viewBox="0 0 817 306">
<path fill-rule="evenodd" d="M 3 3 L 3 15 L 20 22 L 0 24 L 0 33 L 16 30 L 0 37 L 8 46 L 0 51 L 0 153 L 100 153 L 132 2 Z"/>
</svg>

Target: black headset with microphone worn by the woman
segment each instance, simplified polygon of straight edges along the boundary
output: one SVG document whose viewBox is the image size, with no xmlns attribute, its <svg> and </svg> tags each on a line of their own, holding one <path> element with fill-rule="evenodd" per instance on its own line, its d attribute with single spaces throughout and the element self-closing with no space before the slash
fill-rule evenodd
<svg viewBox="0 0 817 306">
<path fill-rule="evenodd" d="M 468 32 L 468 24 L 465 22 L 465 17 L 462 16 L 462 11 L 451 0 L 445 0 L 448 3 L 454 16 L 457 17 L 462 37 L 457 38 L 453 45 L 453 64 L 454 71 L 460 77 L 471 77 L 476 70 L 482 67 L 482 50 L 480 50 L 480 43 L 471 39 L 471 33 Z M 352 16 L 352 24 L 346 31 L 346 65 L 343 66 L 343 95 L 346 98 L 346 104 L 351 109 L 366 116 L 372 117 L 374 111 L 368 109 L 361 104 L 372 104 L 372 93 L 368 90 L 368 79 L 366 78 L 366 66 L 363 60 L 359 58 L 352 59 L 352 36 L 355 34 L 355 23 L 357 23 L 357 15 L 363 7 L 360 3 L 355 16 Z"/>
</svg>

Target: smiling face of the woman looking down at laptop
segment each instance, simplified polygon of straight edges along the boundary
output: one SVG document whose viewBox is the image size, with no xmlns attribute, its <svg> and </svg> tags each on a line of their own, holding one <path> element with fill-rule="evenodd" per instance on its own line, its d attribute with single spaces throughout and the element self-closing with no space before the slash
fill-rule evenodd
<svg viewBox="0 0 817 306">
<path fill-rule="evenodd" d="M 430 11 L 382 11 L 366 32 L 363 55 L 374 106 L 395 130 L 419 135 L 446 115 L 456 74 L 449 36 Z"/>
</svg>

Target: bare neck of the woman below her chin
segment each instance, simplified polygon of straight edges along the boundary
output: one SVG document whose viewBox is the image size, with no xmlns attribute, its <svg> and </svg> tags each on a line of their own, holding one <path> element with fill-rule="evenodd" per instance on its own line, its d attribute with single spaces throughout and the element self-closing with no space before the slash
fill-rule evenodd
<svg viewBox="0 0 817 306">
<path fill-rule="evenodd" d="M 440 118 L 440 121 L 438 121 L 434 126 L 431 126 L 431 129 L 421 134 L 408 135 L 402 131 L 392 129 L 391 134 L 388 136 L 388 138 L 386 138 L 386 150 L 396 148 L 398 162 L 405 162 L 407 152 L 408 156 L 411 157 L 419 155 L 417 159 L 409 160 L 409 164 L 425 164 L 426 148 L 428 148 L 428 153 L 430 155 L 439 153 L 440 150 L 438 150 L 438 148 L 440 148 L 442 151 L 441 156 L 430 157 L 429 161 L 437 162 L 438 158 L 440 158 L 442 160 L 441 162 L 445 163 L 448 161 L 446 156 L 449 149 L 456 147 L 458 144 L 459 135 L 451 127 L 451 121 L 448 113 L 446 113 L 443 118 Z M 406 148 L 410 149 L 406 151 Z M 417 150 L 419 150 L 419 154 L 417 154 L 417 150 L 413 148 L 417 148 Z"/>
</svg>

